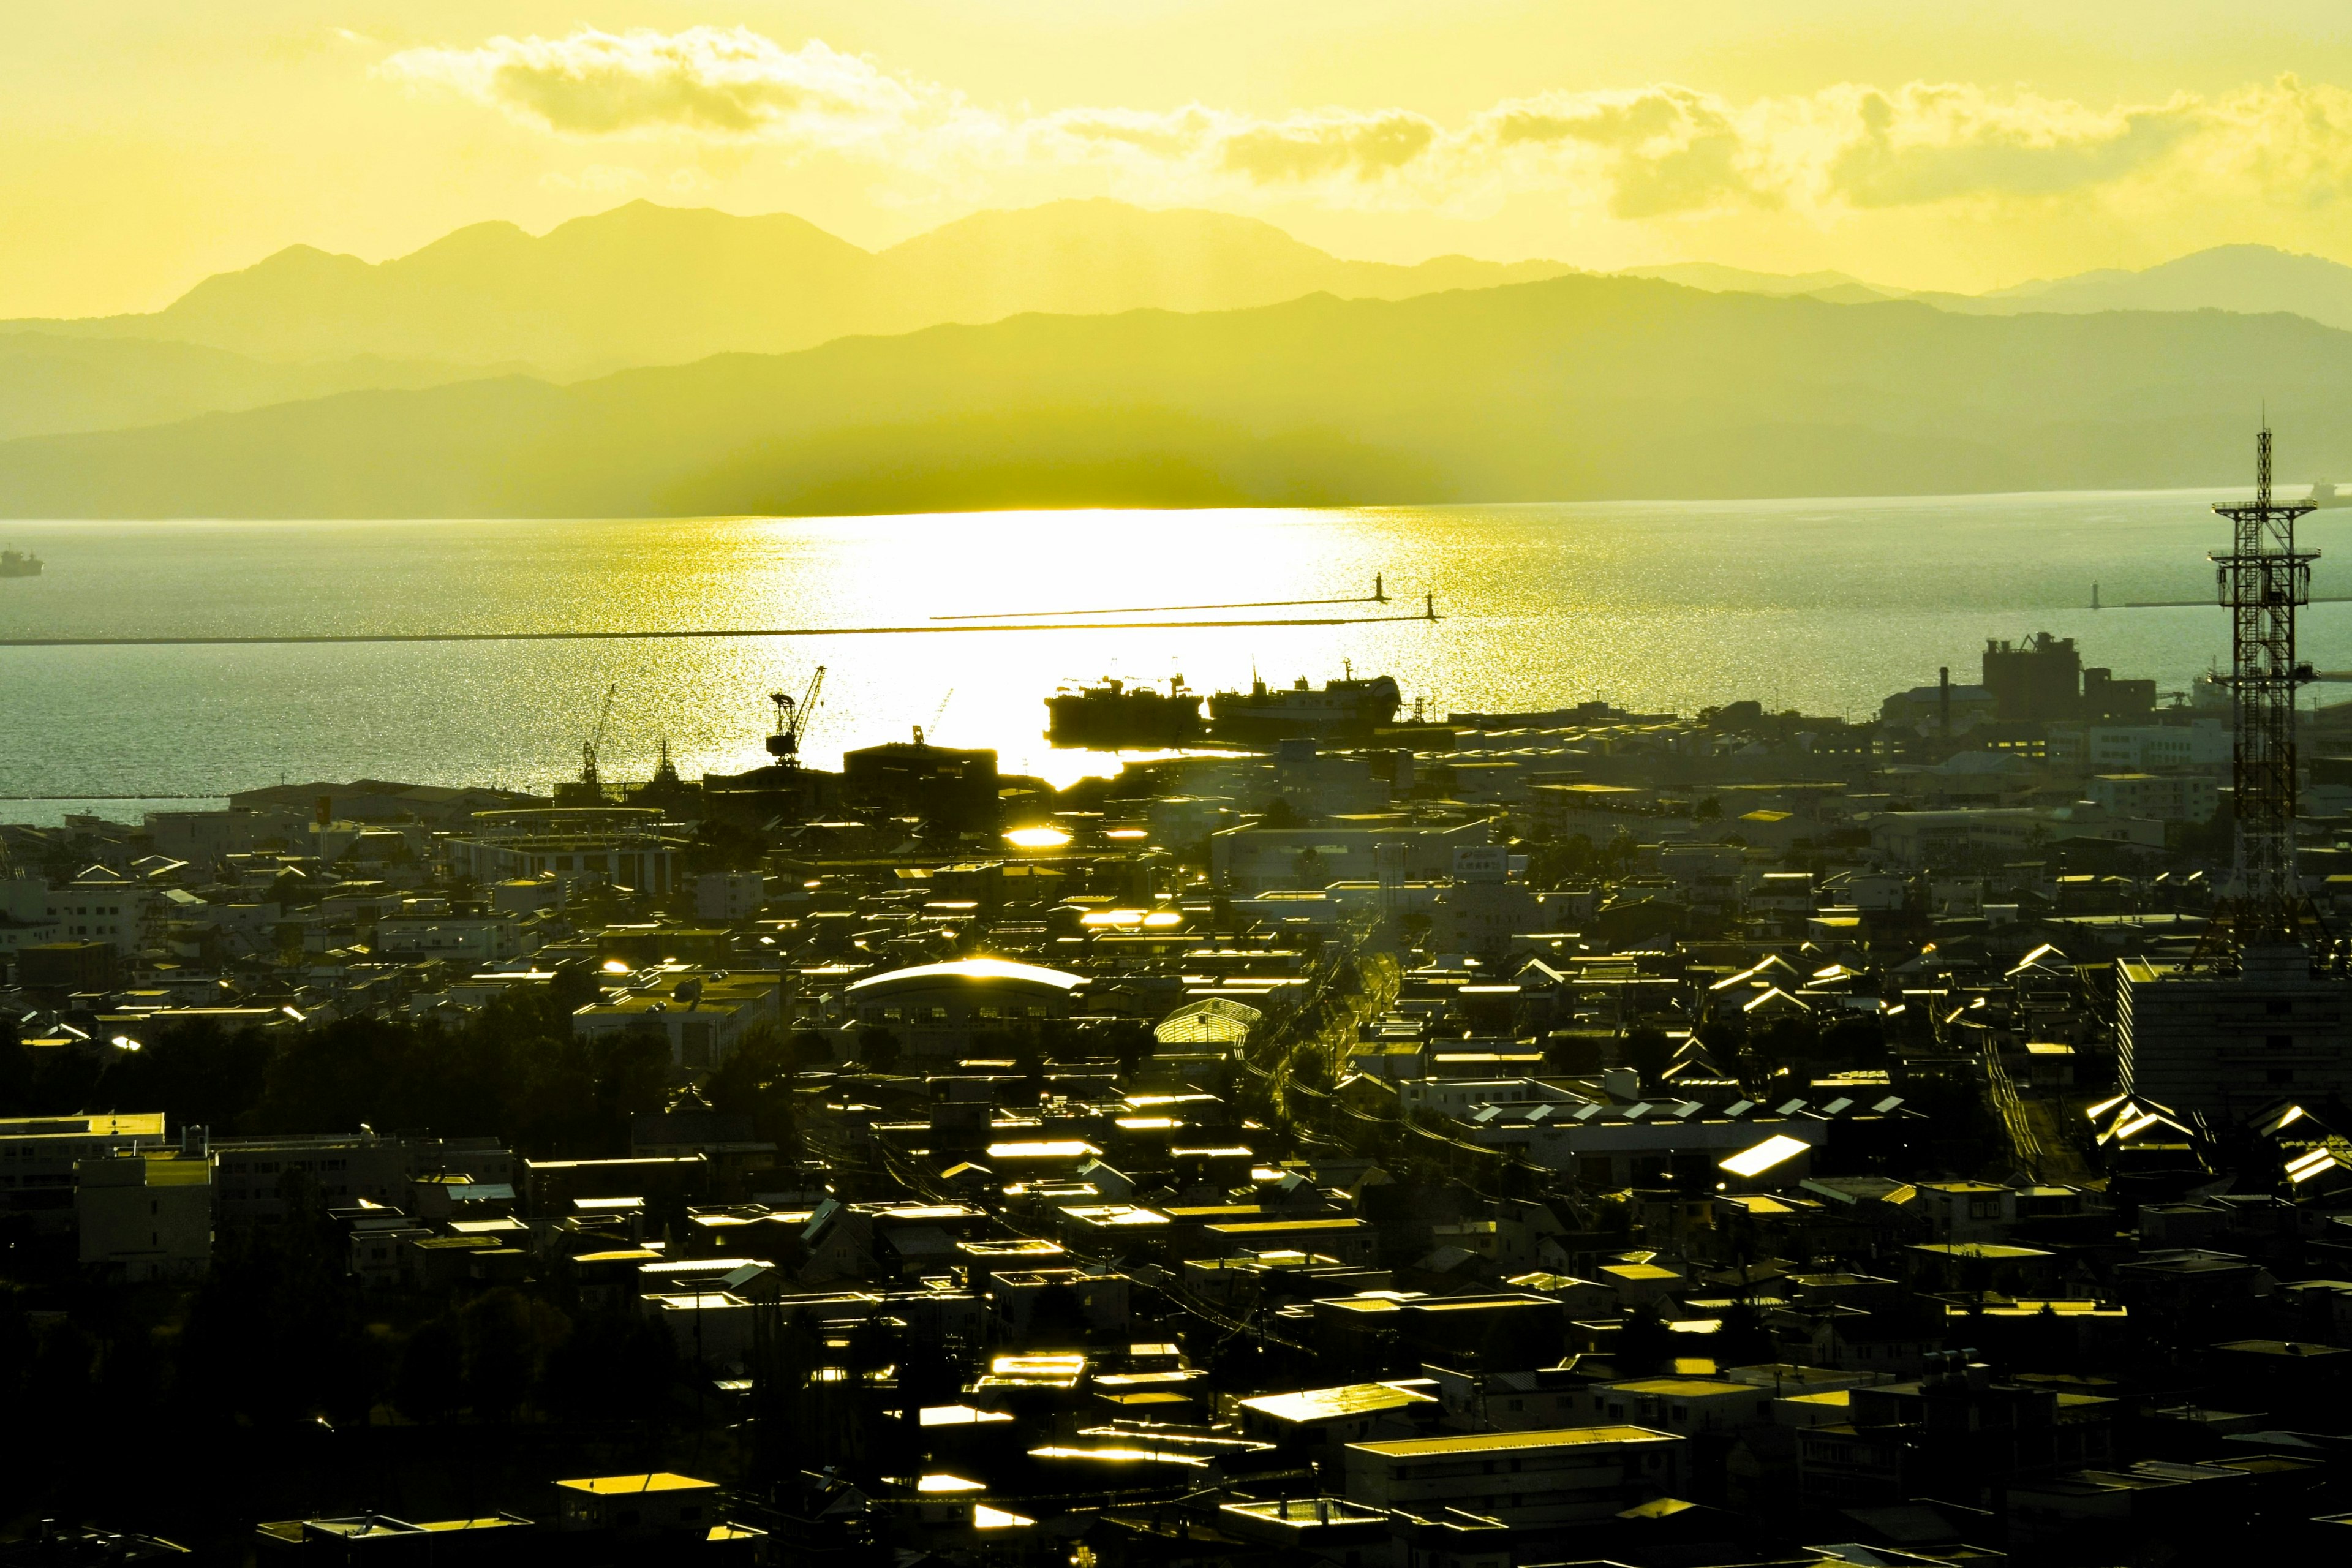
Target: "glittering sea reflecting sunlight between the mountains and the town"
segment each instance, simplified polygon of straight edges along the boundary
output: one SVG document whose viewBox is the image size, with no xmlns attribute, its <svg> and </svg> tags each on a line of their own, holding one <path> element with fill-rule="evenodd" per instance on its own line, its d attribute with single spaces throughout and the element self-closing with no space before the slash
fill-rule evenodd
<svg viewBox="0 0 2352 1568">
<path fill-rule="evenodd" d="M 9 522 L 0 545 L 47 571 L 0 581 L 0 639 L 743 635 L 0 646 L 0 820 L 136 820 L 320 778 L 546 790 L 600 719 L 607 778 L 644 778 L 661 745 L 687 776 L 741 771 L 767 762 L 769 693 L 802 693 L 818 665 L 818 766 L 922 729 L 1056 783 L 1117 766 L 1042 733 L 1049 693 L 1105 675 L 1197 691 L 1392 675 L 1430 717 L 1588 698 L 1867 717 L 1938 668 L 1973 682 L 1987 637 L 2046 630 L 2086 665 L 2185 691 L 2227 661 L 2206 559 L 2225 498 Z M 2303 524 L 2324 552 L 2336 517 L 2352 512 Z M 1388 604 L 1362 602 L 1376 578 Z M 2324 555 L 2312 592 L 2352 595 L 2352 559 Z M 1435 621 L 1414 618 L 1423 595 Z M 2187 604 L 2131 607 L 2150 602 Z M 1263 609 L 1162 609 L 1228 604 Z M 1120 625 L 1063 625 L 1089 621 Z M 2303 651 L 2352 670 L 2352 604 L 2314 604 Z"/>
</svg>

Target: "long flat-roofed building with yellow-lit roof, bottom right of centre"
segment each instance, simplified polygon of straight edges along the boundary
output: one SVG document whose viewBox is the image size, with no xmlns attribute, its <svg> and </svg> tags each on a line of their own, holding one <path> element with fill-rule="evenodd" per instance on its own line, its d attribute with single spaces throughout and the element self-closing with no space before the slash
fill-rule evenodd
<svg viewBox="0 0 2352 1568">
<path fill-rule="evenodd" d="M 1675 1493 L 1682 1448 L 1679 1436 L 1623 1425 L 1348 1443 L 1348 1500 L 1510 1526 L 1613 1519 Z"/>
</svg>

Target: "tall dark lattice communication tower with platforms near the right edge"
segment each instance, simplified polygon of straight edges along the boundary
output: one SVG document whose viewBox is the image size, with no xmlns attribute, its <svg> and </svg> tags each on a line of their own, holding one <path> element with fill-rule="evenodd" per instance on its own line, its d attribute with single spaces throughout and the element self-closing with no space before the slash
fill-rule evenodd
<svg viewBox="0 0 2352 1568">
<path fill-rule="evenodd" d="M 2296 548 L 2296 520 L 2312 503 L 2270 498 L 2267 423 L 2253 440 L 2253 505 L 2213 510 L 2234 527 L 2230 552 L 2211 559 L 2230 609 L 2239 886 L 2230 924 L 2244 952 L 2293 943 L 2303 903 L 2296 884 L 2296 689 L 2312 679 L 2312 668 L 2296 656 L 2296 609 L 2312 597 L 2319 550 Z"/>
</svg>

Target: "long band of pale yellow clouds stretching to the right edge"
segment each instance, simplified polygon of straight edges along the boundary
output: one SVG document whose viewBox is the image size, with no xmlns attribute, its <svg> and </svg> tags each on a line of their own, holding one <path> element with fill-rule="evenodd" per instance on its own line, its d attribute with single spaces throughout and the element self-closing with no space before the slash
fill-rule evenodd
<svg viewBox="0 0 2352 1568">
<path fill-rule="evenodd" d="M 1776 209 L 1835 223 L 2086 193 L 2143 205 L 2352 193 L 2352 94 L 2296 78 L 2112 106 L 1955 82 L 1733 101 L 1665 82 L 1510 99 L 1442 125 L 1378 106 L 981 108 L 821 40 L 788 49 L 708 26 L 412 47 L 376 73 L 564 139 L 835 155 L 978 195 L 993 181 L 1063 181 L 1152 202 L 1470 212 L 1555 193 L 1621 221 Z"/>
</svg>

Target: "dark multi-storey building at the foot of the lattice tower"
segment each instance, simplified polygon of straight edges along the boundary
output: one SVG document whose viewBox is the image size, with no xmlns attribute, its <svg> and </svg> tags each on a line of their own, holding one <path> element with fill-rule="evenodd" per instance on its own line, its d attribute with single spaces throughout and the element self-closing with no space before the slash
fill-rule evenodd
<svg viewBox="0 0 2352 1568">
<path fill-rule="evenodd" d="M 2352 1093 L 2352 983 L 2303 947 L 2249 950 L 2237 973 L 2126 957 L 2114 966 L 2124 1091 L 2176 1112 L 2251 1112 L 2281 1095 Z"/>
</svg>

